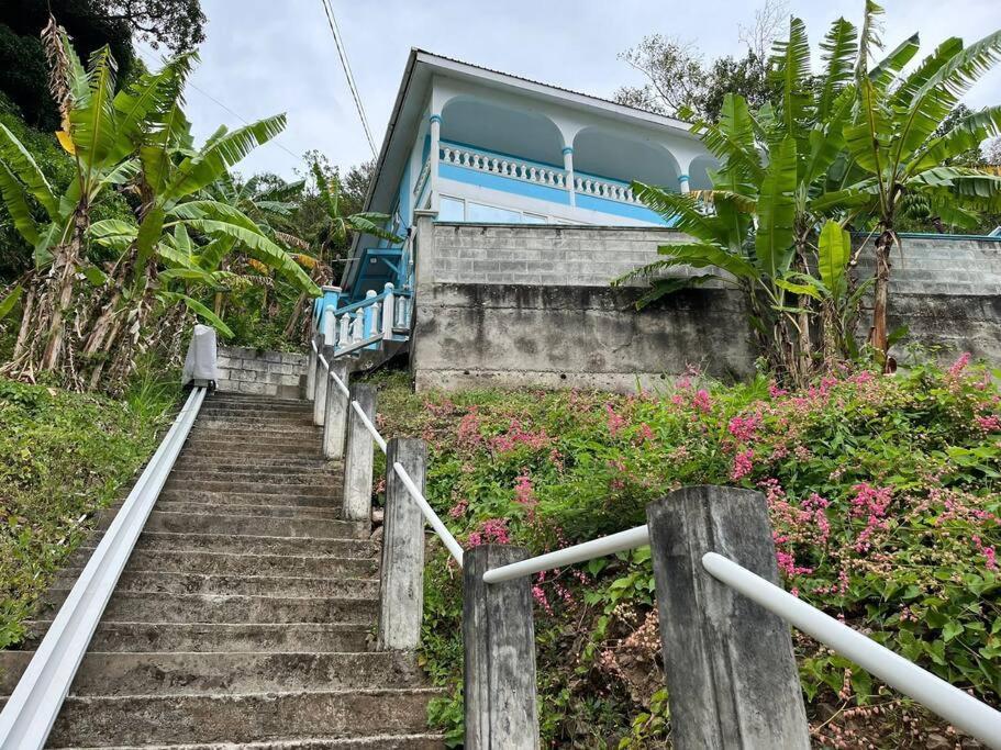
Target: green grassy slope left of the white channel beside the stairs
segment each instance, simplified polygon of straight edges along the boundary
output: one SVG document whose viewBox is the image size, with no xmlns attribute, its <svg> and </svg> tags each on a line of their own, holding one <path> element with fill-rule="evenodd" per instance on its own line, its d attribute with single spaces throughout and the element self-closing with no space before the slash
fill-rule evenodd
<svg viewBox="0 0 1001 750">
<path fill-rule="evenodd" d="M 146 374 L 124 401 L 0 379 L 0 648 L 153 451 L 177 389 Z"/>
</svg>

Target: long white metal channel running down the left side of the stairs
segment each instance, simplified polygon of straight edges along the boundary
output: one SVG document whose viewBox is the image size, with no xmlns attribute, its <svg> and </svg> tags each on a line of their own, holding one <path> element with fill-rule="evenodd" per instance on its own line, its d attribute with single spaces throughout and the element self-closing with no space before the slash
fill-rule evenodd
<svg viewBox="0 0 1001 750">
<path fill-rule="evenodd" d="M 129 493 L 0 713 L 0 749 L 41 750 L 115 584 L 174 467 L 205 389 L 191 390 L 170 430 Z"/>
</svg>

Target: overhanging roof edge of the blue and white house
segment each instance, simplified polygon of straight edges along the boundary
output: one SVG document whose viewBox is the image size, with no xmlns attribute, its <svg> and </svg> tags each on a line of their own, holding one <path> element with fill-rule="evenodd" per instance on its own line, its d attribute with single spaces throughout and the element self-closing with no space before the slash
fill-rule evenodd
<svg viewBox="0 0 1001 750">
<path fill-rule="evenodd" d="M 575 109 L 598 110 L 613 119 L 647 126 L 666 127 L 680 135 L 694 137 L 690 132 L 691 124 L 683 120 L 412 47 L 376 160 L 372 180 L 365 197 L 366 211 L 387 212 L 390 208 L 389 204 L 394 198 L 396 179 L 402 172 L 403 164 L 412 146 L 412 137 L 402 137 L 400 133 L 412 134 L 420 126 L 426 94 L 434 74 L 480 83 L 489 82 L 493 86 L 515 89 L 519 92 L 557 100 Z M 386 176 L 391 179 L 385 180 Z M 363 236 L 355 235 L 352 244 L 352 260 L 346 265 L 342 277 L 342 286 L 345 288 L 351 287 L 357 272 L 358 247 L 363 239 Z"/>
</svg>

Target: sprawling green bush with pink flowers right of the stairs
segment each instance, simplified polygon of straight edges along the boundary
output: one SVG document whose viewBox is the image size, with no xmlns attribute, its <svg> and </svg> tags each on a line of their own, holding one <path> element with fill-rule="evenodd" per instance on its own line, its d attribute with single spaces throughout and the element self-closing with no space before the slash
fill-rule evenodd
<svg viewBox="0 0 1001 750">
<path fill-rule="evenodd" d="M 642 524 L 647 503 L 683 485 L 758 490 L 789 591 L 997 705 L 1001 399 L 989 373 L 964 357 L 947 370 L 844 372 L 793 392 L 764 378 L 698 383 L 451 400 L 389 388 L 380 411 L 388 434 L 430 441 L 429 499 L 469 545 L 538 553 Z M 460 609 L 435 580 L 427 598 L 442 607 L 427 614 L 425 660 L 457 684 Z M 547 741 L 665 741 L 648 550 L 552 571 L 533 596 Z M 445 623 L 456 634 L 447 648 Z M 794 642 L 818 743 L 924 747 L 919 723 L 921 737 L 948 736 L 845 659 Z"/>
</svg>

